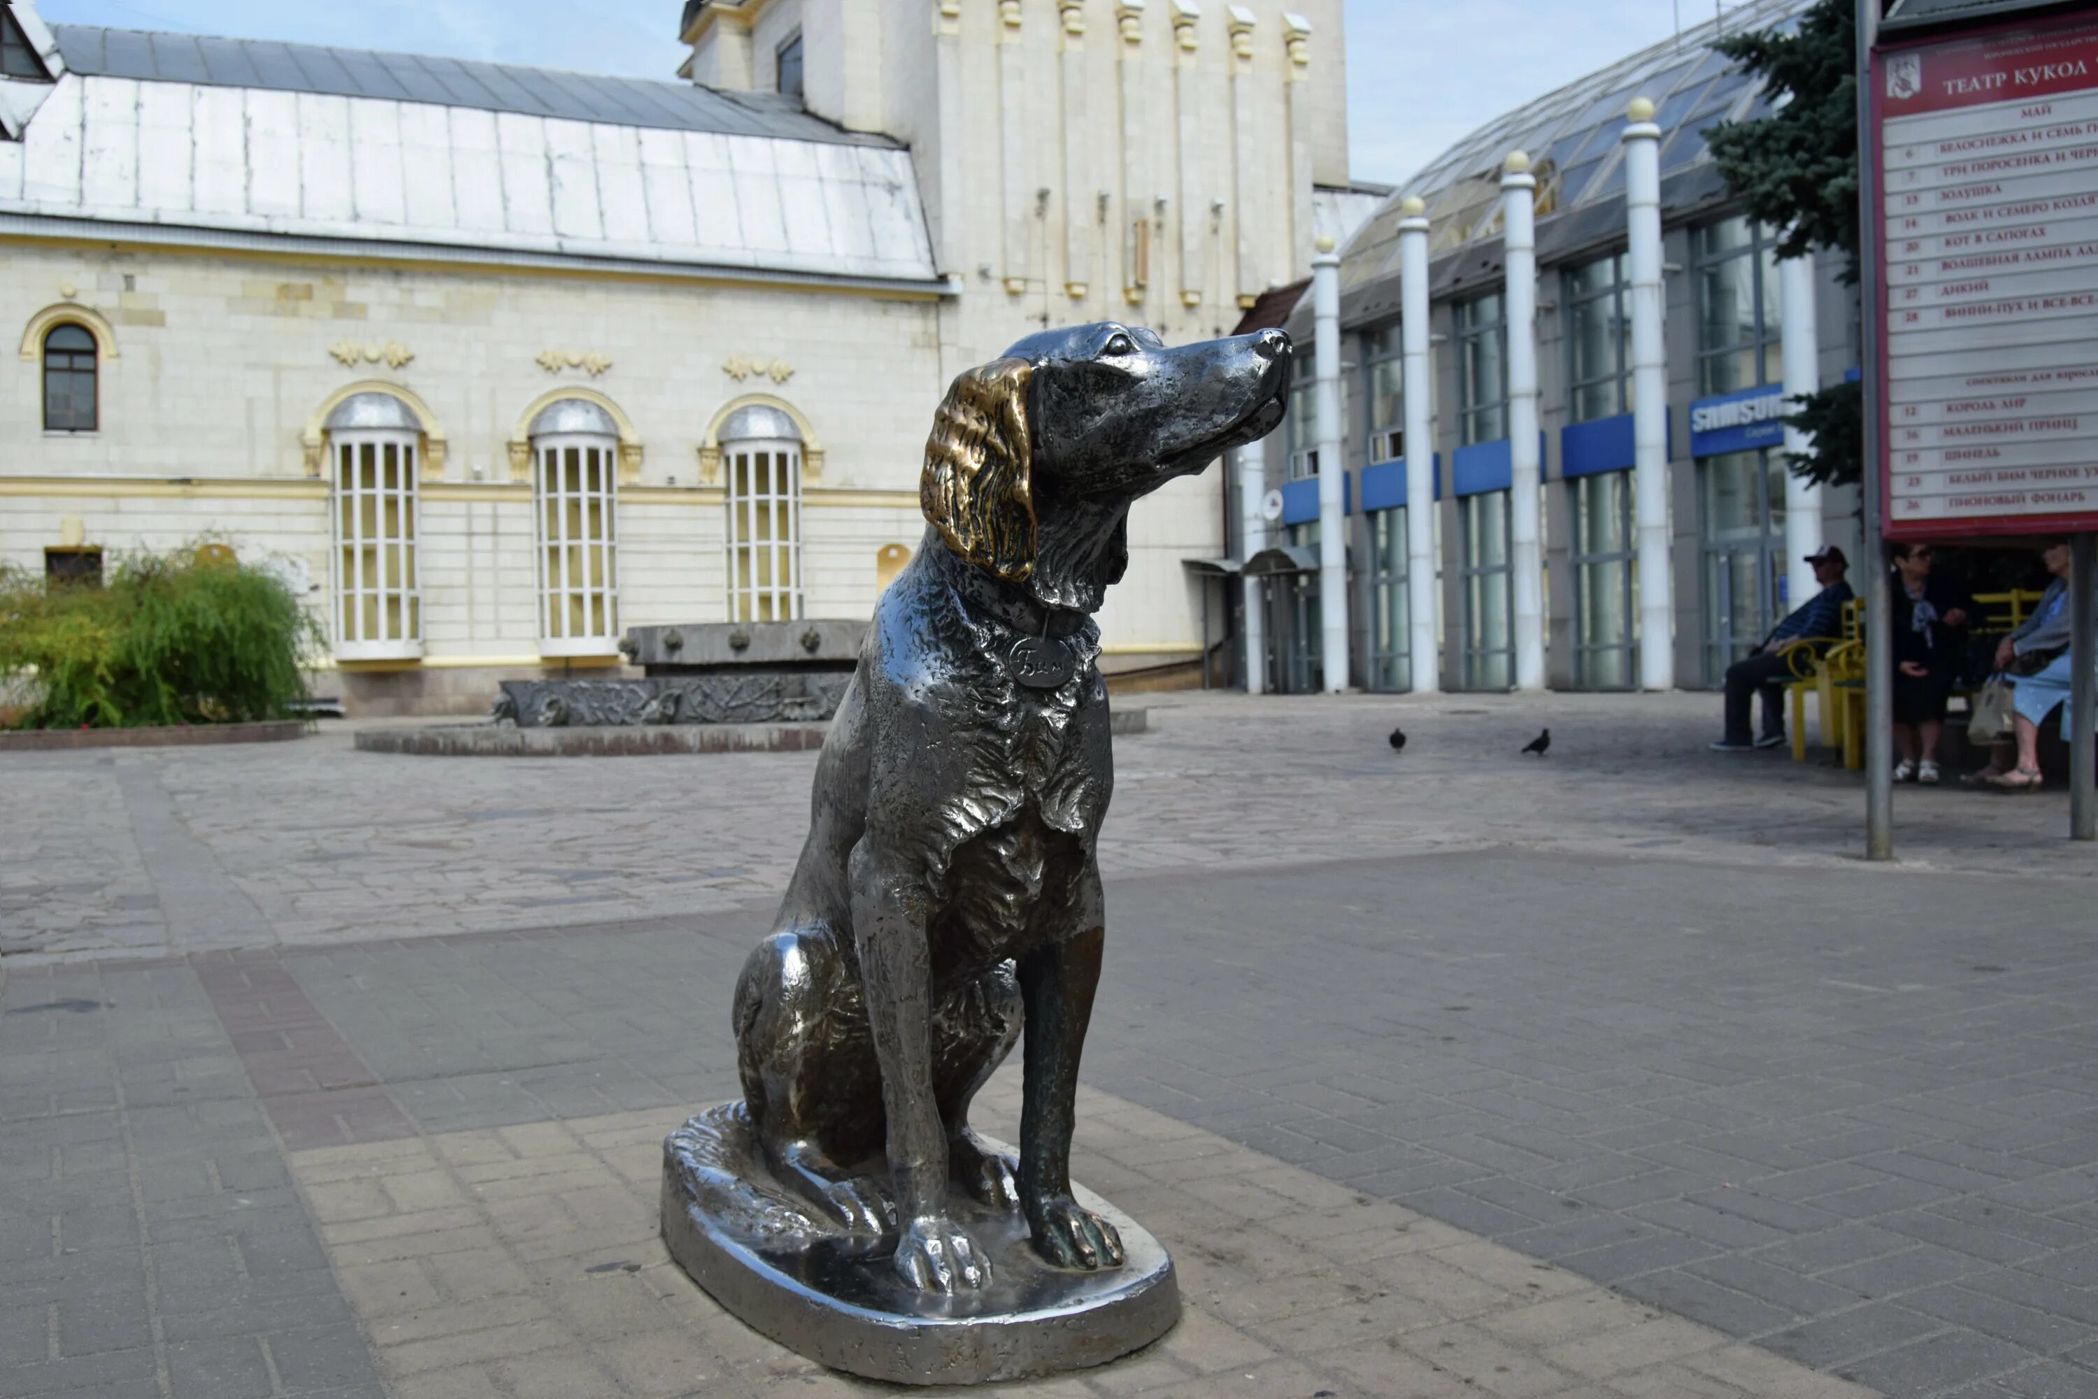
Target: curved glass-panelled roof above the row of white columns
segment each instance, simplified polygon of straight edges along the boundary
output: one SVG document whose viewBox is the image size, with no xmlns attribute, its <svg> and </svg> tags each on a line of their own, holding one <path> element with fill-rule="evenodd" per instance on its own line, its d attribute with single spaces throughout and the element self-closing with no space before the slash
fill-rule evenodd
<svg viewBox="0 0 2098 1399">
<path fill-rule="evenodd" d="M 1355 233 L 1341 258 L 1341 285 L 1353 287 L 1397 271 L 1401 201 L 1429 210 L 1429 252 L 1500 237 L 1500 162 L 1529 155 L 1538 178 L 1538 218 L 1603 203 L 1624 193 L 1624 128 L 1634 96 L 1655 105 L 1662 128 L 1662 176 L 1710 164 L 1701 132 L 1754 115 L 1762 88 L 1712 40 L 1748 29 L 1792 29 L 1813 0 L 1748 0 L 1720 19 L 1685 29 L 1557 92 L 1500 115 L 1443 151 L 1391 193 Z"/>
</svg>

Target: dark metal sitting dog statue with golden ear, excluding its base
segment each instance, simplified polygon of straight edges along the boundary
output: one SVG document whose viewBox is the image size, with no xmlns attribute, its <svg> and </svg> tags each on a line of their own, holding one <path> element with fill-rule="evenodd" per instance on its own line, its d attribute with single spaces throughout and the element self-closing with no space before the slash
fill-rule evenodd
<svg viewBox="0 0 2098 1399">
<path fill-rule="evenodd" d="M 925 447 L 932 526 L 881 596 L 816 768 L 776 931 L 736 984 L 766 1164 L 917 1290 L 990 1282 L 948 1191 L 1026 1212 L 1068 1269 L 1122 1263 L 1070 1189 L 1104 948 L 1114 784 L 1091 612 L 1131 503 L 1282 422 L 1290 342 L 1166 348 L 1125 325 L 1018 342 L 955 380 Z M 1020 1160 L 969 1101 L 1026 1026 Z"/>
</svg>

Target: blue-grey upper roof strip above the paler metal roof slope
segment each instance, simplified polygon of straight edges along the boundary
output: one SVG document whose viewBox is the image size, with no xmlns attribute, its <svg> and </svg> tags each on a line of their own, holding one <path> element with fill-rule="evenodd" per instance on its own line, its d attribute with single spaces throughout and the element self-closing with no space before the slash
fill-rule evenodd
<svg viewBox="0 0 2098 1399">
<path fill-rule="evenodd" d="M 50 31 L 65 67 L 94 78 L 371 96 L 611 126 L 896 147 L 887 136 L 839 130 L 772 92 L 718 92 L 690 82 L 275 40 L 94 25 L 50 25 Z"/>
</svg>

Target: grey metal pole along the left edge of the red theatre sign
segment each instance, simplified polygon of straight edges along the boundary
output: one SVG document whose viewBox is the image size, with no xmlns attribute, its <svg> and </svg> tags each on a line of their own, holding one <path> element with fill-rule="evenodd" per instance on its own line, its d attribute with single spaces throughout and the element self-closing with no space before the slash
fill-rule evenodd
<svg viewBox="0 0 2098 1399">
<path fill-rule="evenodd" d="M 1892 587 L 1886 577 L 1886 543 L 1880 537 L 1880 491 L 1886 476 L 1886 432 L 1880 419 L 1884 388 L 1880 342 L 1886 336 L 1886 306 L 1880 304 L 1880 258 L 1876 241 L 1880 170 L 1874 153 L 1871 46 L 1880 38 L 1880 0 L 1857 0 L 1857 197 L 1865 237 L 1861 250 L 1861 354 L 1865 365 L 1865 453 L 1859 487 L 1865 497 L 1865 858 L 1894 858 L 1894 667 L 1886 663 L 1894 646 Z"/>
</svg>

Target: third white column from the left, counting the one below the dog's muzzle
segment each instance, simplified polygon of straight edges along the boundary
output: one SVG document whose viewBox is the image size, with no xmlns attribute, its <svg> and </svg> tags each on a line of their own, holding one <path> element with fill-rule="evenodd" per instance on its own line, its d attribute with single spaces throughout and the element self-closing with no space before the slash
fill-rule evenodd
<svg viewBox="0 0 2098 1399">
<path fill-rule="evenodd" d="M 1406 396 L 1406 617 L 1414 694 L 1441 688 L 1441 587 L 1435 583 L 1435 380 L 1429 369 L 1429 206 L 1399 206 L 1399 392 Z"/>
</svg>

